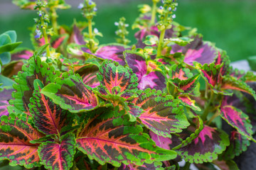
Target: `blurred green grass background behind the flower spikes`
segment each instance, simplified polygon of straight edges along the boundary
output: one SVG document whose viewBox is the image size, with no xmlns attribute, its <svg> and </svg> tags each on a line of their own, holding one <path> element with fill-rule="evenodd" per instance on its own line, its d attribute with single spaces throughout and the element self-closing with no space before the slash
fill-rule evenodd
<svg viewBox="0 0 256 170">
<path fill-rule="evenodd" d="M 77 4 L 82 2 L 74 1 Z M 11 4 L 11 0 L 5 3 Z M 113 0 L 111 3 L 100 1 L 94 21 L 95 27 L 104 35 L 103 38 L 99 38 L 101 44 L 115 42 L 114 31 L 117 27 L 114 26 L 114 22 L 119 21 L 120 17 L 127 18 L 127 23 L 132 26 L 139 14 L 138 4 L 151 4 L 151 0 Z M 58 11 L 60 25 L 71 25 L 73 18 L 84 21 L 76 7 Z M 0 0 L 0 8 L 0 33 L 16 30 L 18 40 L 23 41 L 21 46 L 32 47 L 28 28 L 33 26 L 33 18 L 37 17 L 36 12 L 21 11 L 16 6 L 9 10 L 5 8 L 6 11 L 3 11 L 4 0 Z M 183 26 L 198 28 L 198 33 L 203 34 L 203 39 L 215 42 L 216 47 L 226 50 L 231 61 L 256 55 L 255 0 L 179 0 L 175 21 Z M 136 31 L 129 28 L 129 38 L 132 42 L 136 42 Z"/>
</svg>

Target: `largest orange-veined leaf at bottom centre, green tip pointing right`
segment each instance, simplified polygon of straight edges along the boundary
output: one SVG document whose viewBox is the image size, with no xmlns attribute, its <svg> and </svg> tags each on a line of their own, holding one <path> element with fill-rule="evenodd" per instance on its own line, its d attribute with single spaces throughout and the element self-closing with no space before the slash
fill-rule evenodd
<svg viewBox="0 0 256 170">
<path fill-rule="evenodd" d="M 155 146 L 142 127 L 129 122 L 124 111 L 98 108 L 100 115 L 93 115 L 77 137 L 77 147 L 100 164 L 151 164 L 155 161 L 174 159 L 172 150 Z"/>
</svg>

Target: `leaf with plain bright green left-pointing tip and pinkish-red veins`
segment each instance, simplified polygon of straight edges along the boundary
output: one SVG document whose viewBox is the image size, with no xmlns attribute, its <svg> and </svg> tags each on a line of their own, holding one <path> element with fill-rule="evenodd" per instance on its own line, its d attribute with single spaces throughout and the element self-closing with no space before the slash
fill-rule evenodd
<svg viewBox="0 0 256 170">
<path fill-rule="evenodd" d="M 98 105 L 92 89 L 78 75 L 64 73 L 62 78 L 55 79 L 55 83 L 45 86 L 41 93 L 72 113 L 89 111 Z"/>
</svg>

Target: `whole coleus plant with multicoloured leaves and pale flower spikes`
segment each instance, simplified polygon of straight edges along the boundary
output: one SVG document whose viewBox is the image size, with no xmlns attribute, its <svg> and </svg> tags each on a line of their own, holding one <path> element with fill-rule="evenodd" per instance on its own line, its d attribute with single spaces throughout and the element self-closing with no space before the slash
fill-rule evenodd
<svg viewBox="0 0 256 170">
<path fill-rule="evenodd" d="M 10 74 L 13 88 L 0 91 L 0 159 L 7 160 L 2 164 L 238 169 L 233 158 L 256 142 L 255 108 L 246 97 L 256 98 L 247 84 L 256 77 L 232 69 L 226 53 L 194 30 L 181 34 L 188 28 L 173 21 L 175 0 L 141 6 L 136 45 L 127 45 L 124 18 L 115 24 L 123 44 L 99 45 L 91 0 L 78 6 L 87 23 L 72 30 L 46 24 L 55 17 L 50 11 L 65 1 L 14 2 L 33 6 L 39 18 L 33 30 L 36 50 L 11 55 L 23 65 L 16 76 Z M 88 33 L 82 32 L 85 26 Z"/>
</svg>

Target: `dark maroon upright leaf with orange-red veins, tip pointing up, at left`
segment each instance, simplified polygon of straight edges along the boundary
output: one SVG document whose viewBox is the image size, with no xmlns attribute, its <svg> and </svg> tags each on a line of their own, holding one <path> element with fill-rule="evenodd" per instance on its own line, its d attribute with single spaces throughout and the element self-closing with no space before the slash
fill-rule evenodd
<svg viewBox="0 0 256 170">
<path fill-rule="evenodd" d="M 31 103 L 28 105 L 29 111 L 33 116 L 33 123 L 40 132 L 46 135 L 58 135 L 61 128 L 64 125 L 68 125 L 66 123 L 68 112 L 40 93 L 41 88 L 43 88 L 40 83 L 34 81 L 35 91 L 33 92 Z M 72 123 L 72 121 L 70 122 Z"/>
</svg>

